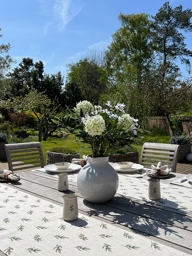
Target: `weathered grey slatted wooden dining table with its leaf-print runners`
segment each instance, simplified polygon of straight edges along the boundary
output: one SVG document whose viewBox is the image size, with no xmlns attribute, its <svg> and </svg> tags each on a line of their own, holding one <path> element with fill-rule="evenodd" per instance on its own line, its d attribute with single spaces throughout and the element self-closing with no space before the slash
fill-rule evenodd
<svg viewBox="0 0 192 256">
<path fill-rule="evenodd" d="M 1 256 L 192 255 L 192 182 L 186 175 L 159 177 L 161 197 L 151 200 L 147 175 L 118 171 L 114 197 L 90 203 L 78 191 L 80 169 L 68 172 L 66 191 L 58 191 L 58 173 L 46 166 L 0 183 Z M 76 220 L 63 219 L 65 194 L 77 195 Z"/>
</svg>

